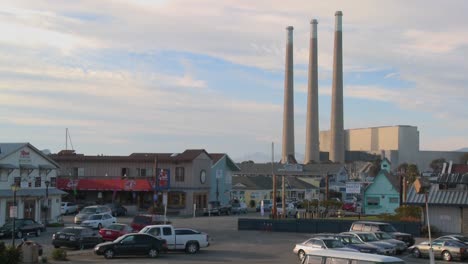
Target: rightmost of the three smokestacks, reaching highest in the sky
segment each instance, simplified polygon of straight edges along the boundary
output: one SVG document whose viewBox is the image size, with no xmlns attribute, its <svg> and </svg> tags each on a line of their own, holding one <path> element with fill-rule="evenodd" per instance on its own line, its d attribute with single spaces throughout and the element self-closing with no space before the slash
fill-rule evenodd
<svg viewBox="0 0 468 264">
<path fill-rule="evenodd" d="M 343 39 L 341 19 L 343 13 L 335 13 L 335 47 L 333 56 L 332 112 L 330 127 L 330 160 L 344 163 L 343 125 Z"/>
</svg>

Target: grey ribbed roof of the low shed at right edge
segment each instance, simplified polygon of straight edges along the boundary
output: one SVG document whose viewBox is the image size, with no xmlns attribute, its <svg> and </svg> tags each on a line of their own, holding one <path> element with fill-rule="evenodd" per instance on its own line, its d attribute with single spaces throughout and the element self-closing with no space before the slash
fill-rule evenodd
<svg viewBox="0 0 468 264">
<path fill-rule="evenodd" d="M 428 203 L 430 205 L 454 205 L 468 207 L 468 190 L 439 190 L 438 184 L 432 184 L 428 193 Z M 406 204 L 424 205 L 425 195 L 416 193 L 416 190 L 411 186 Z"/>
</svg>

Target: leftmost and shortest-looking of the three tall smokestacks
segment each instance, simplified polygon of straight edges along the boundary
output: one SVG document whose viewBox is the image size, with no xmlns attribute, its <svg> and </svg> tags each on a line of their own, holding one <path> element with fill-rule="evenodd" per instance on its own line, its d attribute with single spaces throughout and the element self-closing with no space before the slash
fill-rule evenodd
<svg viewBox="0 0 468 264">
<path fill-rule="evenodd" d="M 284 76 L 283 154 L 281 163 L 296 163 L 294 158 L 294 77 L 293 27 L 286 28 L 286 63 Z"/>
</svg>

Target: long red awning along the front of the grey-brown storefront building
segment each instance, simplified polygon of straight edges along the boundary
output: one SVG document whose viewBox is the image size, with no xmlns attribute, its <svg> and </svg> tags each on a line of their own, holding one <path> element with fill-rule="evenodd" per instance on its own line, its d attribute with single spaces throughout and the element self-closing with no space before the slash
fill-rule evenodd
<svg viewBox="0 0 468 264">
<path fill-rule="evenodd" d="M 60 190 L 77 191 L 152 191 L 147 179 L 57 179 Z"/>
</svg>

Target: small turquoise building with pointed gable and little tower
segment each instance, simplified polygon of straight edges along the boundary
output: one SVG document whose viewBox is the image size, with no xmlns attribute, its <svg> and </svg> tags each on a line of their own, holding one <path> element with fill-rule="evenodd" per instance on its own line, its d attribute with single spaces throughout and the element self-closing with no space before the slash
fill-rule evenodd
<svg viewBox="0 0 468 264">
<path fill-rule="evenodd" d="M 393 214 L 400 206 L 400 188 L 396 175 L 390 173 L 390 162 L 384 159 L 372 184 L 364 191 L 364 213 Z"/>
</svg>

